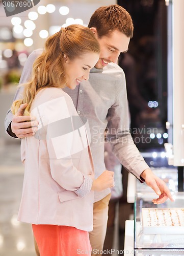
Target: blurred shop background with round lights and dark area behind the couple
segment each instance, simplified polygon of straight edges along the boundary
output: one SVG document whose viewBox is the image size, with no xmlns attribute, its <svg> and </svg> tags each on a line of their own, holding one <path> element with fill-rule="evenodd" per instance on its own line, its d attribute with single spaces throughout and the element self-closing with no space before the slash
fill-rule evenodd
<svg viewBox="0 0 184 256">
<path fill-rule="evenodd" d="M 168 165 L 164 148 L 169 139 L 168 106 L 172 109 L 172 102 L 168 102 L 168 46 L 171 44 L 168 3 L 165 0 L 41 0 L 32 9 L 6 17 L 0 1 L 0 255 L 35 255 L 30 225 L 16 221 L 23 179 L 20 140 L 11 138 L 4 128 L 24 63 L 34 49 L 43 48 L 45 39 L 61 27 L 87 26 L 90 16 L 100 6 L 119 4 L 133 18 L 134 37 L 128 52 L 118 60 L 126 76 L 130 132 L 150 167 L 170 168 L 173 176 L 168 178 L 167 172 L 159 175 L 168 184 L 174 179 L 172 189 L 177 190 L 176 167 Z M 120 249 L 124 243 L 124 221 L 133 214 L 132 204 L 127 203 L 128 178 L 123 167 L 122 175 L 117 236 L 114 239 L 110 234 L 106 242 L 106 246 L 109 243 Z"/>
</svg>

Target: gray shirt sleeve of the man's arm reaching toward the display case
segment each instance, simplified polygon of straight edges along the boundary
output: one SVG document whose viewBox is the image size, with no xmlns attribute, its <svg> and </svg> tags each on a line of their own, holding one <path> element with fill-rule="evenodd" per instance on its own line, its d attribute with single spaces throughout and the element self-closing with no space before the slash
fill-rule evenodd
<svg viewBox="0 0 184 256">
<path fill-rule="evenodd" d="M 143 170 L 149 168 L 144 161 L 129 132 L 128 101 L 124 73 L 114 85 L 116 100 L 108 111 L 108 134 L 112 151 L 128 172 L 135 175 L 141 182 Z"/>
</svg>

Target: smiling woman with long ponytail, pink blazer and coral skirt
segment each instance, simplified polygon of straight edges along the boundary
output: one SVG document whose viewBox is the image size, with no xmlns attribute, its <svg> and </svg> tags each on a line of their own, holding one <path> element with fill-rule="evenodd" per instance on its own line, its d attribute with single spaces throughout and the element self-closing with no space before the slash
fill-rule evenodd
<svg viewBox="0 0 184 256">
<path fill-rule="evenodd" d="M 114 185 L 113 172 L 94 180 L 89 141 L 73 102 L 62 88 L 88 80 L 99 58 L 90 29 L 71 25 L 50 36 L 33 65 L 23 99 L 25 115 L 39 121 L 34 137 L 21 141 L 25 165 L 18 220 L 32 223 L 41 256 L 91 255 L 93 191 Z"/>
</svg>

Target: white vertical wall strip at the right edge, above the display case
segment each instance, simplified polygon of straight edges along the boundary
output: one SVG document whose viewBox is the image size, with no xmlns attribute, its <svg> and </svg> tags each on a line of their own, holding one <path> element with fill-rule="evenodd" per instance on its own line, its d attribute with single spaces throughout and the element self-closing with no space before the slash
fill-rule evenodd
<svg viewBox="0 0 184 256">
<path fill-rule="evenodd" d="M 184 1 L 173 0 L 173 153 L 174 166 L 184 165 Z"/>
</svg>

